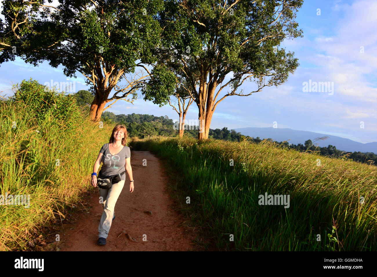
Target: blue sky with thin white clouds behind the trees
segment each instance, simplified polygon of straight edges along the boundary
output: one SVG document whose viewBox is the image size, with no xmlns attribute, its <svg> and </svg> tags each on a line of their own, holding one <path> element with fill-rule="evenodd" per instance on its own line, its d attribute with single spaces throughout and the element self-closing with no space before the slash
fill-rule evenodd
<svg viewBox="0 0 377 277">
<path fill-rule="evenodd" d="M 362 143 L 377 141 L 377 1 L 305 0 L 296 21 L 303 38 L 280 45 L 299 59 L 294 74 L 277 88 L 226 97 L 217 105 L 210 128 L 272 127 L 277 122 L 277 128 L 337 135 Z M 12 84 L 30 78 L 41 84 L 51 79 L 75 81 L 75 91 L 88 89 L 84 76 L 76 75 L 78 78 L 66 77 L 62 66 L 53 68 L 47 61 L 34 67 L 17 58 L 0 65 L 0 95 L 11 95 Z M 305 91 L 304 82 L 329 82 L 333 92 Z M 244 82 L 239 91 L 244 89 L 246 94 L 254 87 L 254 83 Z M 223 90 L 218 99 L 226 92 Z M 118 100 L 106 111 L 178 119 L 172 107 L 146 102 L 141 93 L 133 105 Z M 195 103 L 186 119 L 198 119 Z"/>
</svg>

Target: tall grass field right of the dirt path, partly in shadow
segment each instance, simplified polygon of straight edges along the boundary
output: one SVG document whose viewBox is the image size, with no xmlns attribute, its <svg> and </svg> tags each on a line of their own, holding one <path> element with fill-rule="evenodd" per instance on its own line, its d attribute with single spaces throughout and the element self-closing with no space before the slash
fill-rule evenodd
<svg viewBox="0 0 377 277">
<path fill-rule="evenodd" d="M 130 145 L 155 152 L 174 169 L 182 205 L 193 207 L 190 216 L 218 249 L 377 250 L 375 166 L 265 141 L 209 139 L 198 145 L 187 137 L 152 137 Z M 259 205 L 265 192 L 290 195 L 290 207 Z"/>
</svg>

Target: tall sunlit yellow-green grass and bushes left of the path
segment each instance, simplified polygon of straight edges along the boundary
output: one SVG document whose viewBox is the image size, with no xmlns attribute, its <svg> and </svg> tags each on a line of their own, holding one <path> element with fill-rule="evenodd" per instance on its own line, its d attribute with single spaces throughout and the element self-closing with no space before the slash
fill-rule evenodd
<svg viewBox="0 0 377 277">
<path fill-rule="evenodd" d="M 90 122 L 75 100 L 36 81 L 15 86 L 0 107 L 0 195 L 30 195 L 30 207 L 0 205 L 0 250 L 25 249 L 34 227 L 63 218 L 82 192 L 113 126 Z"/>
</svg>

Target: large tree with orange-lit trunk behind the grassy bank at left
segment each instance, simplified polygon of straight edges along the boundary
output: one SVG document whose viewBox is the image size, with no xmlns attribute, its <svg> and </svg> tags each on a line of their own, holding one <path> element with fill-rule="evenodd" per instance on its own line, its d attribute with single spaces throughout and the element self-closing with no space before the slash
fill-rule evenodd
<svg viewBox="0 0 377 277">
<path fill-rule="evenodd" d="M 130 94 L 125 100 L 133 102 L 149 77 L 143 74 L 146 65 L 156 61 L 152 49 L 160 44 L 161 29 L 153 15 L 164 8 L 163 0 L 59 0 L 56 7 L 43 2 L 3 1 L 0 63 L 20 56 L 35 66 L 43 60 L 63 65 L 69 77 L 82 73 L 94 95 L 90 116 L 95 121 L 107 102 Z M 127 79 L 136 67 L 140 75 Z M 127 84 L 118 86 L 123 78 Z"/>
</svg>

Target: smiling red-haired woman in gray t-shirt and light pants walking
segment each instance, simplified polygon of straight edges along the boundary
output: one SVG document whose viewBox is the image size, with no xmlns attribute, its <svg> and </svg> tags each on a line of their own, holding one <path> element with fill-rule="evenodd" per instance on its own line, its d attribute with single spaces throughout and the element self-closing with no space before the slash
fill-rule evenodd
<svg viewBox="0 0 377 277">
<path fill-rule="evenodd" d="M 124 125 L 116 125 L 110 136 L 109 143 L 102 146 L 100 154 L 94 163 L 92 173 L 92 186 L 97 187 L 97 170 L 100 168 L 101 161 L 103 163 L 100 176 L 119 175 L 120 181 L 110 187 L 110 189 L 101 189 L 100 196 L 103 199 L 103 213 L 100 224 L 98 225 L 98 245 L 105 245 L 107 234 L 111 227 L 112 221 L 115 219 L 115 203 L 123 189 L 126 182 L 126 173 L 130 178 L 130 192 L 133 192 L 133 178 L 130 164 L 131 152 L 130 148 L 126 146 L 127 129 Z"/>
</svg>

